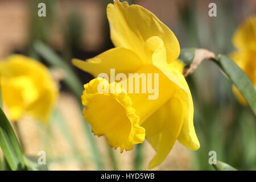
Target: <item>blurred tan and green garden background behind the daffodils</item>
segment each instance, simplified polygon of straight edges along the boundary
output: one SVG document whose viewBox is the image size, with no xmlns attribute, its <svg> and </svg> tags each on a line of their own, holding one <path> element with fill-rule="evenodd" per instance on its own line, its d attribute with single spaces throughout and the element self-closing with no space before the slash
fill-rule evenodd
<svg viewBox="0 0 256 182">
<path fill-rule="evenodd" d="M 46 3 L 46 17 L 38 17 L 40 2 Z M 72 58 L 85 60 L 113 47 L 106 19 L 106 5 L 111 2 L 0 0 L 0 59 L 11 53 L 34 57 L 46 64 L 59 82 L 60 97 L 51 122 L 45 126 L 24 118 L 15 127 L 25 155 L 46 151 L 49 170 L 147 170 L 155 154 L 147 142 L 119 154 L 104 137 L 95 137 L 82 118 L 82 88 L 72 88 L 67 81 L 75 77 L 85 84 L 93 78 L 72 67 Z M 232 36 L 237 26 L 256 14 L 254 0 L 128 2 L 158 16 L 175 33 L 181 48 L 207 48 L 225 55 L 234 51 Z M 217 5 L 216 17 L 208 15 L 211 2 Z M 65 66 L 58 67 L 55 60 Z M 237 169 L 256 170 L 256 119 L 248 107 L 238 103 L 232 84 L 210 61 L 204 61 L 187 81 L 201 148 L 191 151 L 177 142 L 154 169 L 213 170 L 208 154 L 216 151 L 218 160 Z"/>
</svg>

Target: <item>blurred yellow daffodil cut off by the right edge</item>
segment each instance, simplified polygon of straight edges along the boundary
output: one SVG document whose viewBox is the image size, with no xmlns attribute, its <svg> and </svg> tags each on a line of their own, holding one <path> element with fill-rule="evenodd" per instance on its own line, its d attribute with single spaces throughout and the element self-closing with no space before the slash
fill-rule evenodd
<svg viewBox="0 0 256 182">
<path fill-rule="evenodd" d="M 233 44 L 237 51 L 230 55 L 231 59 L 246 73 L 256 88 L 256 16 L 246 19 L 238 27 L 233 36 Z M 234 85 L 233 92 L 238 101 L 246 105 L 245 98 Z"/>
</svg>

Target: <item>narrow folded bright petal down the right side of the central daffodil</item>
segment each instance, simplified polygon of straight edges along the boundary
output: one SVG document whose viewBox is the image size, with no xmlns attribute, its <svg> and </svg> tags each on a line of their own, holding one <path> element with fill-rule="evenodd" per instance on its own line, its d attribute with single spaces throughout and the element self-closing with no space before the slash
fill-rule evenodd
<svg viewBox="0 0 256 182">
<path fill-rule="evenodd" d="M 192 150 L 197 150 L 200 147 L 199 140 L 197 139 L 195 129 L 193 126 L 193 101 L 192 96 L 182 75 L 184 65 L 179 61 L 175 60 L 170 64 L 167 64 L 165 52 L 166 49 L 163 46 L 163 41 L 157 36 L 153 36 L 146 41 L 145 46 L 147 55 L 152 57 L 152 64 L 159 68 L 164 75 L 166 75 L 170 81 L 174 82 L 175 88 L 179 93 L 177 97 L 183 100 L 184 105 L 186 105 L 186 110 L 184 111 L 184 123 L 179 137 L 180 143 L 184 144 Z"/>
</svg>

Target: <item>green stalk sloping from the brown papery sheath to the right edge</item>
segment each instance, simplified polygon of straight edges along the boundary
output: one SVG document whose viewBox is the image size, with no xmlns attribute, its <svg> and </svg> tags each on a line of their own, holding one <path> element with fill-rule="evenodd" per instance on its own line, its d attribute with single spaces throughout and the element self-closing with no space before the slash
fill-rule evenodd
<svg viewBox="0 0 256 182">
<path fill-rule="evenodd" d="M 237 89 L 240 90 L 247 104 L 256 115 L 256 90 L 245 72 L 243 72 L 234 61 L 224 55 L 218 55 L 216 61 L 225 75 L 228 76 L 233 84 L 236 85 Z"/>
</svg>

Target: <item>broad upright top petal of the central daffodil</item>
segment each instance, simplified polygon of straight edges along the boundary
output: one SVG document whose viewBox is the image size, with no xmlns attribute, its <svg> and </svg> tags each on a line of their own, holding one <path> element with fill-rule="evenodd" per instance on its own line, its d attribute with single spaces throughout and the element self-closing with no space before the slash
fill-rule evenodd
<svg viewBox="0 0 256 182">
<path fill-rule="evenodd" d="M 168 63 L 179 56 L 179 42 L 174 33 L 142 6 L 129 6 L 127 2 L 114 1 L 114 4 L 108 5 L 107 15 L 115 47 L 130 49 L 143 63 L 151 62 L 144 52 L 144 43 L 151 36 L 159 36 L 163 40 Z"/>
</svg>

